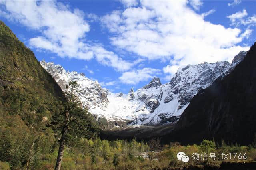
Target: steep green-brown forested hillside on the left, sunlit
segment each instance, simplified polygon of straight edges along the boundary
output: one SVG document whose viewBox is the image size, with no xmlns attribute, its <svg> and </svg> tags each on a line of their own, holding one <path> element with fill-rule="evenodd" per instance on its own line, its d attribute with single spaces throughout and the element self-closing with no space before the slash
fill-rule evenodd
<svg viewBox="0 0 256 170">
<path fill-rule="evenodd" d="M 48 125 L 62 110 L 64 95 L 10 28 L 1 21 L 1 161 L 12 168 L 34 164 L 51 152 Z"/>
</svg>

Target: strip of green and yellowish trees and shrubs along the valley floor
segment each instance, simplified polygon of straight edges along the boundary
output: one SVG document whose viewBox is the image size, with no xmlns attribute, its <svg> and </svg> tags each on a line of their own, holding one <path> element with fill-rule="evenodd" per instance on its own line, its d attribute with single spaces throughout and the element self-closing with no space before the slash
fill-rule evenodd
<svg viewBox="0 0 256 170">
<path fill-rule="evenodd" d="M 40 136 L 34 146 L 28 147 L 30 156 L 29 166 L 18 163 L 18 156 L 10 162 L 1 162 L 2 169 L 54 169 L 58 147 L 47 143 L 46 136 Z M 190 157 L 188 163 L 178 160 L 178 152 L 184 152 Z M 222 160 L 221 155 L 232 153 L 231 159 Z M 233 153 L 238 153 L 234 158 Z M 238 155 L 241 153 L 241 156 Z M 198 159 L 193 160 L 193 155 Z M 207 156 L 202 160 L 201 155 Z M 215 154 L 216 158 L 210 158 Z M 245 157 L 243 157 L 245 154 Z M 219 155 L 217 157 L 217 155 Z M 217 159 L 219 158 L 219 160 Z M 224 158 L 224 157 L 223 157 Z M 17 162 L 15 162 L 15 160 Z M 255 146 L 228 146 L 224 142 L 215 144 L 214 141 L 204 140 L 201 144 L 182 146 L 178 142 L 160 145 L 159 139 L 148 142 L 138 142 L 136 138 L 128 140 L 100 140 L 81 138 L 73 146 L 65 146 L 61 169 L 63 170 L 132 170 L 132 169 L 165 169 L 189 165 L 209 165 L 219 167 L 223 161 L 249 162 L 256 161 Z M 14 166 L 16 165 L 16 166 Z"/>
</svg>

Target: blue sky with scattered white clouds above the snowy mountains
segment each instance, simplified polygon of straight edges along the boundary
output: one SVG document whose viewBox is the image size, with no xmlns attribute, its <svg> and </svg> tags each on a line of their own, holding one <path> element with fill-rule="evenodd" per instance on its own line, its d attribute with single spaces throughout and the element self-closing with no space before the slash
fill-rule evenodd
<svg viewBox="0 0 256 170">
<path fill-rule="evenodd" d="M 36 58 L 112 92 L 187 64 L 232 61 L 256 40 L 256 1 L 1 1 L 1 20 Z"/>
</svg>

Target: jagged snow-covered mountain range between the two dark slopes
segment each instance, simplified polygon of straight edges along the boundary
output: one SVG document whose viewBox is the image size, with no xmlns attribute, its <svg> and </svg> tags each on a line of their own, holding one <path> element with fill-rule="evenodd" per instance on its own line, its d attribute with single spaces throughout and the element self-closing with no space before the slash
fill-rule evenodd
<svg viewBox="0 0 256 170">
<path fill-rule="evenodd" d="M 44 60 L 40 63 L 63 91 L 66 91 L 68 82 L 77 81 L 80 85 L 80 92 L 77 93 L 80 101 L 97 118 L 130 121 L 133 125 L 159 125 L 176 122 L 200 89 L 230 73 L 245 55 L 246 52 L 241 51 L 231 64 L 220 61 L 186 65 L 178 69 L 169 83 L 162 84 L 158 77 L 154 77 L 141 89 L 131 89 L 127 94 L 111 93 L 83 73 L 68 72 L 62 66 Z"/>
</svg>

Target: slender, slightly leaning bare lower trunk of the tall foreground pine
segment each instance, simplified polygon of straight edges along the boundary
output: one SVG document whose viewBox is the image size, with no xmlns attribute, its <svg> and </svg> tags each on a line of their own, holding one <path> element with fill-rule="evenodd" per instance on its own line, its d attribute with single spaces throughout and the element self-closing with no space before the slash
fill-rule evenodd
<svg viewBox="0 0 256 170">
<path fill-rule="evenodd" d="M 62 162 L 62 157 L 64 153 L 64 146 L 65 146 L 65 137 L 66 137 L 66 132 L 68 130 L 68 122 L 69 122 L 69 113 L 66 112 L 66 121 L 64 126 L 62 127 L 62 134 L 60 138 L 60 146 L 59 146 L 59 151 L 58 151 L 58 156 L 56 160 L 56 165 L 55 165 L 55 170 L 60 170 L 61 167 L 61 162 Z"/>
</svg>

